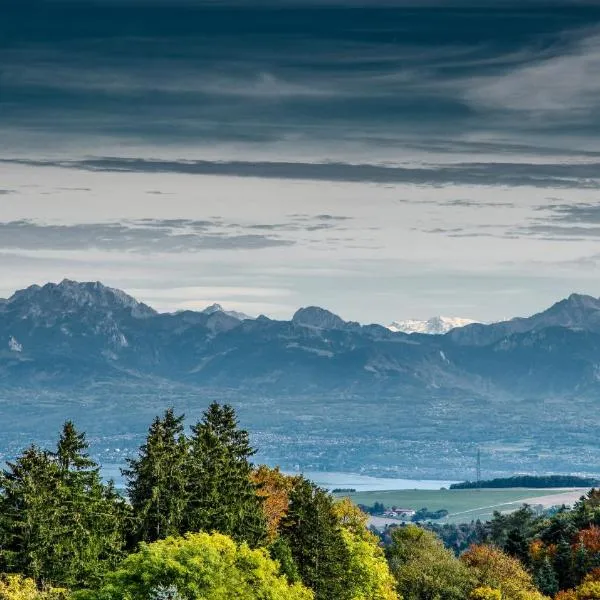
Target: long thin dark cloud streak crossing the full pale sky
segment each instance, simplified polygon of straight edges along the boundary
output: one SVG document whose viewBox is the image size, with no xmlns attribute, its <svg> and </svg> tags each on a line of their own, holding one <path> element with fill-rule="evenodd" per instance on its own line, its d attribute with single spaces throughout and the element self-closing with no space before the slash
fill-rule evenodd
<svg viewBox="0 0 600 600">
<path fill-rule="evenodd" d="M 94 172 L 180 173 L 226 177 L 299 179 L 419 185 L 504 185 L 541 188 L 600 187 L 600 163 L 527 164 L 458 163 L 432 167 L 388 167 L 371 164 L 267 161 L 178 161 L 99 157 L 82 160 L 0 159 L 0 164 L 60 167 Z"/>
</svg>

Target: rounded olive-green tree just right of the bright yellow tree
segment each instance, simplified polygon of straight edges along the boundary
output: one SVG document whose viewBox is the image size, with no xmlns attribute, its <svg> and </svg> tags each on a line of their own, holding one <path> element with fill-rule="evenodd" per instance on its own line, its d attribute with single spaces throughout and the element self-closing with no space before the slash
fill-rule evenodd
<svg viewBox="0 0 600 600">
<path fill-rule="evenodd" d="M 394 530 L 387 556 L 404 600 L 464 600 L 475 587 L 469 569 L 417 525 Z"/>
</svg>

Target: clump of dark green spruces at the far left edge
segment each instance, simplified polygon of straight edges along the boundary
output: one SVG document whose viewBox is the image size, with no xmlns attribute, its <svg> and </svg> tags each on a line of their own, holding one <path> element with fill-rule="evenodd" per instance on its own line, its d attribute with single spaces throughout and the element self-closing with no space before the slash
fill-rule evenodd
<svg viewBox="0 0 600 600">
<path fill-rule="evenodd" d="M 0 476 L 2 570 L 39 583 L 97 583 L 122 558 L 127 506 L 66 423 L 55 452 L 32 446 Z"/>
</svg>

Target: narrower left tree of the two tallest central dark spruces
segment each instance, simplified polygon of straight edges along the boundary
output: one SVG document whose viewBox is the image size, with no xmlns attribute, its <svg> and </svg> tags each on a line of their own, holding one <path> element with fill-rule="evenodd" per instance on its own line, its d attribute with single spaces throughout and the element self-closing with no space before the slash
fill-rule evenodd
<svg viewBox="0 0 600 600">
<path fill-rule="evenodd" d="M 156 417 L 139 456 L 122 471 L 134 515 L 134 544 L 183 532 L 188 455 L 183 419 L 172 408 Z"/>
</svg>

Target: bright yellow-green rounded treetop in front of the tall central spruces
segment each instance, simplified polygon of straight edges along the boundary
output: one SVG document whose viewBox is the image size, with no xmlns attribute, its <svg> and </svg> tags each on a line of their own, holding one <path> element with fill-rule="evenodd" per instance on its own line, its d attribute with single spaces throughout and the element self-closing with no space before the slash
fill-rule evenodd
<svg viewBox="0 0 600 600">
<path fill-rule="evenodd" d="M 312 600 L 290 585 L 265 550 L 251 550 L 218 534 L 190 533 L 142 544 L 87 600 Z"/>
</svg>

